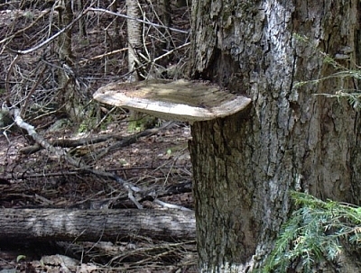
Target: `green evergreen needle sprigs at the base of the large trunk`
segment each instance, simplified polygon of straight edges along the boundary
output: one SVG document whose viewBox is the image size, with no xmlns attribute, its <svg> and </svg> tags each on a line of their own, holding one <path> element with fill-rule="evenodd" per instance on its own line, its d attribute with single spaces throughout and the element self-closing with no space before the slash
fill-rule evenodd
<svg viewBox="0 0 361 273">
<path fill-rule="evenodd" d="M 282 226 L 262 272 L 313 272 L 319 262 L 337 262 L 345 245 L 359 249 L 361 207 L 300 192 L 292 192 L 292 198 L 300 208 Z"/>
</svg>

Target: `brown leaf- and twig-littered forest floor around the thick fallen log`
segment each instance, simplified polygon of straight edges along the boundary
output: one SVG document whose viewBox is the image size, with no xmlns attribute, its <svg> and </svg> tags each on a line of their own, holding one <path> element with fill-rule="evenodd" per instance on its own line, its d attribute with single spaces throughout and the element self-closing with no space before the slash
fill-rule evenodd
<svg viewBox="0 0 361 273">
<path fill-rule="evenodd" d="M 109 128 L 99 134 L 124 134 L 127 123 L 109 124 Z M 91 133 L 72 132 L 65 127 L 57 135 L 66 139 L 79 139 L 91 136 Z M 54 137 L 54 133 L 44 132 L 47 140 Z M 60 159 L 51 156 L 47 150 L 41 150 L 32 155 L 19 152 L 29 146 L 29 142 L 19 133 L 8 134 L 10 143 L 5 136 L 0 136 L 0 169 L 2 170 L 2 185 L 0 205 L 3 208 L 46 208 L 46 207 L 78 207 L 114 198 L 111 209 L 121 209 L 125 205 L 133 207 L 131 202 L 116 202 L 116 196 L 124 193 L 124 188 L 115 181 L 94 175 L 82 175 L 76 168 L 69 168 Z M 132 182 L 138 187 L 152 188 L 167 187 L 191 180 L 190 155 L 187 141 L 190 139 L 190 126 L 173 123 L 168 128 L 152 136 L 139 139 L 135 143 L 115 150 L 101 160 L 93 162 L 94 168 L 116 172 L 120 177 Z M 183 207 L 193 208 L 191 193 L 160 198 L 162 201 Z M 125 205 L 124 205 L 125 204 Z M 145 208 L 162 208 L 152 202 L 144 202 Z M 75 208 L 77 209 L 77 208 Z M 87 207 L 85 209 L 88 209 Z M 104 243 L 104 242 L 101 242 Z M 53 255 L 65 255 L 72 259 L 80 259 L 78 272 L 195 272 L 196 253 L 195 243 L 179 244 L 179 250 L 168 255 L 171 242 L 154 241 L 134 237 L 131 241 L 106 242 L 106 248 L 100 242 L 25 242 L 14 245 L 0 245 L 0 268 L 9 270 L 16 268 L 17 272 L 58 272 L 61 267 L 56 261 L 44 265 L 42 260 Z M 111 245 L 111 247 L 109 246 Z M 167 246 L 169 244 L 169 246 Z M 109 249 L 119 246 L 132 248 L 123 255 L 110 255 Z M 164 253 L 161 255 L 156 247 L 162 245 Z M 64 249 L 64 246 L 66 248 Z M 75 249 L 69 251 L 69 249 Z M 148 250 L 145 250 L 148 249 Z M 154 249 L 154 253 L 152 253 Z M 174 247 L 173 247 L 174 249 Z M 132 254 L 134 250 L 138 253 Z M 142 253 L 144 250 L 144 253 Z M 184 252 L 187 250 L 186 252 Z M 178 254 L 177 254 L 178 253 Z M 175 254 L 175 255 L 174 255 Z M 134 256 L 138 264 L 133 264 Z M 162 257 L 163 256 L 163 257 Z M 185 263 L 184 256 L 187 258 Z M 18 257 L 24 257 L 16 261 Z M 146 258 L 146 259 L 145 259 Z M 144 259 L 144 262 L 139 262 Z M 11 271 L 0 271 L 11 272 Z"/>
</svg>

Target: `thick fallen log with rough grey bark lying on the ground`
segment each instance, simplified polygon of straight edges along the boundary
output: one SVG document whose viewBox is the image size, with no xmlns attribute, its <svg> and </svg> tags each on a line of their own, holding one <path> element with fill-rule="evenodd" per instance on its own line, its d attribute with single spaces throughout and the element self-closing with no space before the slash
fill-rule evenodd
<svg viewBox="0 0 361 273">
<path fill-rule="evenodd" d="M 134 235 L 194 240 L 193 212 L 165 210 L 1 209 L 0 241 L 116 241 Z"/>
</svg>

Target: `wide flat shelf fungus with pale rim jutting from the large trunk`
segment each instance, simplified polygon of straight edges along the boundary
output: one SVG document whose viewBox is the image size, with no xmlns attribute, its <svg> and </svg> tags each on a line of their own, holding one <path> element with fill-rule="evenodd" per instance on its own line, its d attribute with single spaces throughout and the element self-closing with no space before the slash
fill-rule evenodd
<svg viewBox="0 0 361 273">
<path fill-rule="evenodd" d="M 93 96 L 107 105 L 190 123 L 236 114 L 251 103 L 251 99 L 209 82 L 184 79 L 112 83 L 100 87 Z"/>
</svg>

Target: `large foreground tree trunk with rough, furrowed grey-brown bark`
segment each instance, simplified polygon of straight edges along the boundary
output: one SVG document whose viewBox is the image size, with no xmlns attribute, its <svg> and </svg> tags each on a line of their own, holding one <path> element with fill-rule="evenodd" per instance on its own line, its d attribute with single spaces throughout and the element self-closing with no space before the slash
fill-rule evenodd
<svg viewBox="0 0 361 273">
<path fill-rule="evenodd" d="M 320 51 L 360 48 L 360 12 L 356 0 L 193 1 L 192 77 L 253 100 L 245 114 L 192 126 L 202 272 L 260 268 L 292 212 L 290 190 L 360 205 L 359 118 L 345 99 L 314 96 L 353 84 L 295 86 L 335 72 Z M 341 64 L 359 64 L 357 53 Z"/>
</svg>

